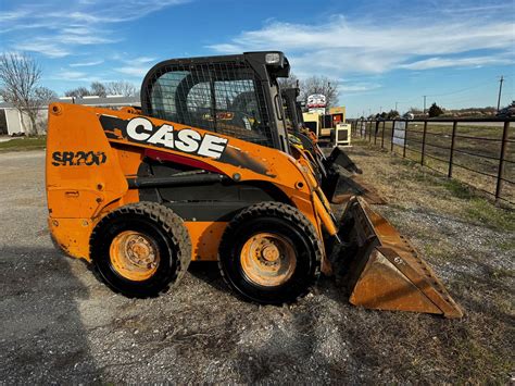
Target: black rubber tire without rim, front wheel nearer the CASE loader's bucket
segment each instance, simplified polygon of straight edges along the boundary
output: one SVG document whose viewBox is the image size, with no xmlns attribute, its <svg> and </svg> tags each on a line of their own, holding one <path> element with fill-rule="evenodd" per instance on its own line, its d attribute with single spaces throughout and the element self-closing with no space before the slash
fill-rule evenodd
<svg viewBox="0 0 515 386">
<path fill-rule="evenodd" d="M 260 285 L 246 275 L 240 253 L 254 235 L 268 233 L 288 239 L 296 266 L 286 283 Z M 296 301 L 309 292 L 319 276 L 322 244 L 311 222 L 296 208 L 281 202 L 261 202 L 237 214 L 219 246 L 218 267 L 226 284 L 242 298 L 264 304 Z"/>
</svg>

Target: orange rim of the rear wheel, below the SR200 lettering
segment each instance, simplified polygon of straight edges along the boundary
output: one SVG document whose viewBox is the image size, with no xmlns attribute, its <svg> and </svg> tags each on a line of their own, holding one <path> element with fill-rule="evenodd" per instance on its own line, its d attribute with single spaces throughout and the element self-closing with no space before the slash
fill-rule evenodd
<svg viewBox="0 0 515 386">
<path fill-rule="evenodd" d="M 160 262 L 155 244 L 148 236 L 134 231 L 116 235 L 111 242 L 109 254 L 116 272 L 135 282 L 151 277 Z"/>
</svg>

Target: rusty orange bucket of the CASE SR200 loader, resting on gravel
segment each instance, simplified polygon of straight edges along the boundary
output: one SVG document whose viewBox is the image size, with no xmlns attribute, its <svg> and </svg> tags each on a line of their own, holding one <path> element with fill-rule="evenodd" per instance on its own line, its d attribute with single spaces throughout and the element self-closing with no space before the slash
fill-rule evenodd
<svg viewBox="0 0 515 386">
<path fill-rule="evenodd" d="M 363 199 L 350 200 L 341 224 L 340 237 L 352 246 L 346 249 L 352 257 L 344 261 L 352 304 L 463 316 L 431 267 Z"/>
</svg>

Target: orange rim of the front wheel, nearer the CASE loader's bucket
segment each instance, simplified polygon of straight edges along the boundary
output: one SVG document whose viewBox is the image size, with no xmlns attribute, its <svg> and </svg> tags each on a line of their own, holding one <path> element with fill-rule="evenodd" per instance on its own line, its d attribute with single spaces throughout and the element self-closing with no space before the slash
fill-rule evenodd
<svg viewBox="0 0 515 386">
<path fill-rule="evenodd" d="M 260 233 L 243 245 L 241 267 L 253 283 L 275 287 L 288 282 L 296 271 L 297 257 L 292 244 L 286 238 Z"/>
</svg>

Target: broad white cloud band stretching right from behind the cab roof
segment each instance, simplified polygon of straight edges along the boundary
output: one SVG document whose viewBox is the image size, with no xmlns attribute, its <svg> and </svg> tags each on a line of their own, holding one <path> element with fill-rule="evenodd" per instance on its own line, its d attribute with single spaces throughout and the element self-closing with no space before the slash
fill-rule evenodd
<svg viewBox="0 0 515 386">
<path fill-rule="evenodd" d="M 412 20 L 380 23 L 349 21 L 342 15 L 319 25 L 273 22 L 256 30 L 242 32 L 229 41 L 209 46 L 221 53 L 280 49 L 296 74 L 380 74 L 395 69 L 424 70 L 430 65 L 473 65 L 474 60 L 456 61 L 447 55 L 490 50 L 488 62 L 506 63 L 497 55 L 513 46 L 513 21 L 445 17 L 428 24 Z M 426 57 L 438 58 L 426 59 Z M 424 61 L 427 61 L 424 63 Z M 438 63 L 439 62 L 439 63 Z M 418 64 L 417 64 L 418 63 Z M 478 64 L 481 64 L 478 63 Z"/>
</svg>

